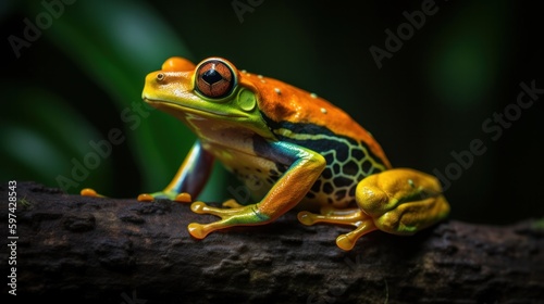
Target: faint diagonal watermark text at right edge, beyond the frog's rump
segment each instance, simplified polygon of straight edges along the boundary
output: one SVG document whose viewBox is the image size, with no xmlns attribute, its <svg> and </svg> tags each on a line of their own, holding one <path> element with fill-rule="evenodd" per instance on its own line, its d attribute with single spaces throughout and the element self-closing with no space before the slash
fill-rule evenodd
<svg viewBox="0 0 544 304">
<path fill-rule="evenodd" d="M 536 80 L 529 85 L 521 81 L 520 91 L 516 102 L 511 102 L 503 109 L 503 112 L 494 112 L 489 118 L 482 122 L 482 131 L 489 135 L 492 141 L 497 141 L 503 136 L 505 129 L 509 129 L 517 122 L 524 110 L 530 109 L 544 94 L 544 89 L 536 87 Z M 454 159 L 443 170 L 433 169 L 433 174 L 441 180 L 443 190 L 446 191 L 452 186 L 452 181 L 458 180 L 465 170 L 468 170 L 477 156 L 483 155 L 487 151 L 484 140 L 474 138 L 469 142 L 468 149 L 460 152 L 452 151 Z"/>
</svg>

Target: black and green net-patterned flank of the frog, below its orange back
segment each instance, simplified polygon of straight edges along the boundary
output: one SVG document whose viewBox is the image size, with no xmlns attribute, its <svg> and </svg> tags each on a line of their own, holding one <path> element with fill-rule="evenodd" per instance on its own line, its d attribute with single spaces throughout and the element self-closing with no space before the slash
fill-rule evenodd
<svg viewBox="0 0 544 304">
<path fill-rule="evenodd" d="M 357 183 L 369 175 L 386 169 L 383 161 L 362 141 L 338 136 L 326 127 L 312 124 L 265 121 L 277 140 L 316 151 L 325 159 L 326 167 L 307 193 L 308 199 L 324 193 L 331 204 L 355 203 Z"/>
</svg>

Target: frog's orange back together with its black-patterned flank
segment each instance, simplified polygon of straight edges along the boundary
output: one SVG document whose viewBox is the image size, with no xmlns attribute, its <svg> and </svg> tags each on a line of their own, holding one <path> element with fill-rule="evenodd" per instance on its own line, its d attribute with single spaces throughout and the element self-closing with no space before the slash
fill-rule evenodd
<svg viewBox="0 0 544 304">
<path fill-rule="evenodd" d="M 358 182 L 391 168 L 372 135 L 339 107 L 273 78 L 245 71 L 238 77 L 240 86 L 256 93 L 261 115 L 276 140 L 305 147 L 325 157 L 323 173 L 299 207 L 316 210 L 316 206 L 323 205 L 355 205 Z M 267 178 L 270 186 L 287 170 L 282 164 L 276 167 Z M 242 172 L 244 174 L 237 175 L 244 179 L 248 170 Z"/>
</svg>

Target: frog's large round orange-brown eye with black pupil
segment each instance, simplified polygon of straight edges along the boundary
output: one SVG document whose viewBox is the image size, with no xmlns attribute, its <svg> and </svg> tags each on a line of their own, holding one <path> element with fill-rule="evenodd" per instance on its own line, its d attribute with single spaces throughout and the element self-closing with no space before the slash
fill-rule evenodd
<svg viewBox="0 0 544 304">
<path fill-rule="evenodd" d="M 223 98 L 231 93 L 234 83 L 234 72 L 222 61 L 207 61 L 197 69 L 196 88 L 206 97 Z"/>
</svg>

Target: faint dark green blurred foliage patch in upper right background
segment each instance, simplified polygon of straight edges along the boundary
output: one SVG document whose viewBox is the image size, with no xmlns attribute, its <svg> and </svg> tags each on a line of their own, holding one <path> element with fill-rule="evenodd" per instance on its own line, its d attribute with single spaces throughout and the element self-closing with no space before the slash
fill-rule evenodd
<svg viewBox="0 0 544 304">
<path fill-rule="evenodd" d="M 510 12 L 504 2 L 461 8 L 459 15 L 463 17 L 448 24 L 445 34 L 432 43 L 436 51 L 429 62 L 429 83 L 435 94 L 453 107 L 477 107 L 494 89 L 507 50 L 500 35 L 508 28 Z"/>
</svg>

